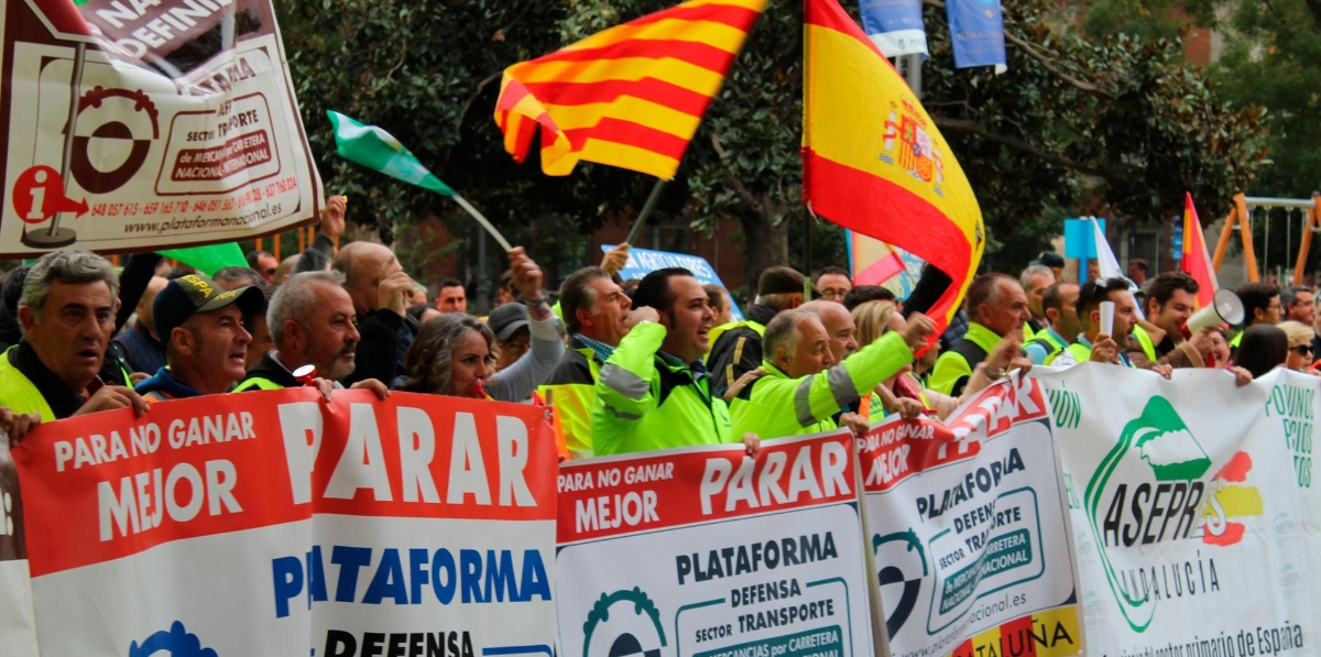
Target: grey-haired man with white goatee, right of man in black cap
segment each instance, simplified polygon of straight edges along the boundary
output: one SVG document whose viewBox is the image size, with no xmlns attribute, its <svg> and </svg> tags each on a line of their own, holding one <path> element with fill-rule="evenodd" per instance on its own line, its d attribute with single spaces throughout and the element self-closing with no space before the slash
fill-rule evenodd
<svg viewBox="0 0 1321 657">
<path fill-rule="evenodd" d="M 234 388 L 273 391 L 296 388 L 314 379 L 326 392 L 357 367 L 358 334 L 353 299 L 343 289 L 339 272 L 305 272 L 291 276 L 280 285 L 266 311 L 266 323 L 275 342 L 262 360 L 248 368 Z M 310 369 L 299 372 L 310 365 Z M 353 388 L 366 388 L 384 398 L 386 385 L 375 379 L 358 381 Z"/>
</svg>

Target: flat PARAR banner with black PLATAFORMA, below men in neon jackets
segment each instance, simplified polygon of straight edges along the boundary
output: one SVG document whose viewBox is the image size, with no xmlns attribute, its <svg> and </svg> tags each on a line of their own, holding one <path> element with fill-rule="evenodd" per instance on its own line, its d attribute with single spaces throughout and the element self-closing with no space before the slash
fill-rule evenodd
<svg viewBox="0 0 1321 657">
<path fill-rule="evenodd" d="M 872 656 L 847 433 L 565 463 L 560 654 Z"/>
</svg>

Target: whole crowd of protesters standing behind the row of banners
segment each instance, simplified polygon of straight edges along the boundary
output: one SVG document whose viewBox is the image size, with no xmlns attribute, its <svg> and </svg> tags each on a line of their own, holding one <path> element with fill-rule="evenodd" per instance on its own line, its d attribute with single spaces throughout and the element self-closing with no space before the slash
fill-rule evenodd
<svg viewBox="0 0 1321 657">
<path fill-rule="evenodd" d="M 729 290 L 687 269 L 621 280 L 627 245 L 568 276 L 552 303 L 542 269 L 514 248 L 497 307 L 478 318 L 457 280 L 440 281 L 432 302 L 390 248 L 337 248 L 345 212 L 330 199 L 300 255 L 252 252 L 250 266 L 214 276 L 151 253 L 116 273 L 79 251 L 9 272 L 0 429 L 21 441 L 73 416 L 309 385 L 325 400 L 357 388 L 546 406 L 564 459 L 740 442 L 756 454 L 761 438 L 943 418 L 1033 365 L 1214 368 L 1239 385 L 1280 367 L 1318 373 L 1308 288 L 1248 284 L 1242 330 L 1190 332 L 1199 290 L 1188 274 L 1148 278 L 1135 261 L 1127 278 L 1079 285 L 1046 252 L 1017 277 L 972 280 L 937 339 L 925 313 L 952 282 L 930 266 L 905 299 L 835 266 L 812 280 L 771 266 L 732 322 Z"/>
</svg>

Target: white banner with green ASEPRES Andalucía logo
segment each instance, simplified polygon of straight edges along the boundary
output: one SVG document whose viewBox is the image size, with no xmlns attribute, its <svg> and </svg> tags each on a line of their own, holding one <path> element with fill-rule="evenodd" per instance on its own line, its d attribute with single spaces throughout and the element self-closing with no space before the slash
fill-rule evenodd
<svg viewBox="0 0 1321 657">
<path fill-rule="evenodd" d="M 1314 654 L 1318 381 L 1085 363 L 1042 375 L 1082 575 L 1087 654 Z M 1310 515 L 1305 515 L 1310 513 Z M 1309 555 L 1310 550 L 1310 555 Z"/>
</svg>

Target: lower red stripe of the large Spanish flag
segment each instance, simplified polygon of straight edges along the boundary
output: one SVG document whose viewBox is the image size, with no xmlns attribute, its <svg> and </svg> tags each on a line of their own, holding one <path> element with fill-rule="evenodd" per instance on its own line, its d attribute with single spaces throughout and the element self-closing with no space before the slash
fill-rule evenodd
<svg viewBox="0 0 1321 657">
<path fill-rule="evenodd" d="M 812 179 L 828 179 L 828 187 L 814 187 Z M 845 194 L 820 194 L 819 189 L 848 190 Z M 816 191 L 814 194 L 814 191 Z M 951 285 L 930 310 L 945 328 L 960 290 L 958 281 L 968 276 L 972 247 L 967 236 L 937 207 L 904 187 L 867 172 L 844 166 L 803 149 L 803 194 L 812 211 L 832 222 L 888 241 L 931 263 L 947 273 Z"/>
</svg>

